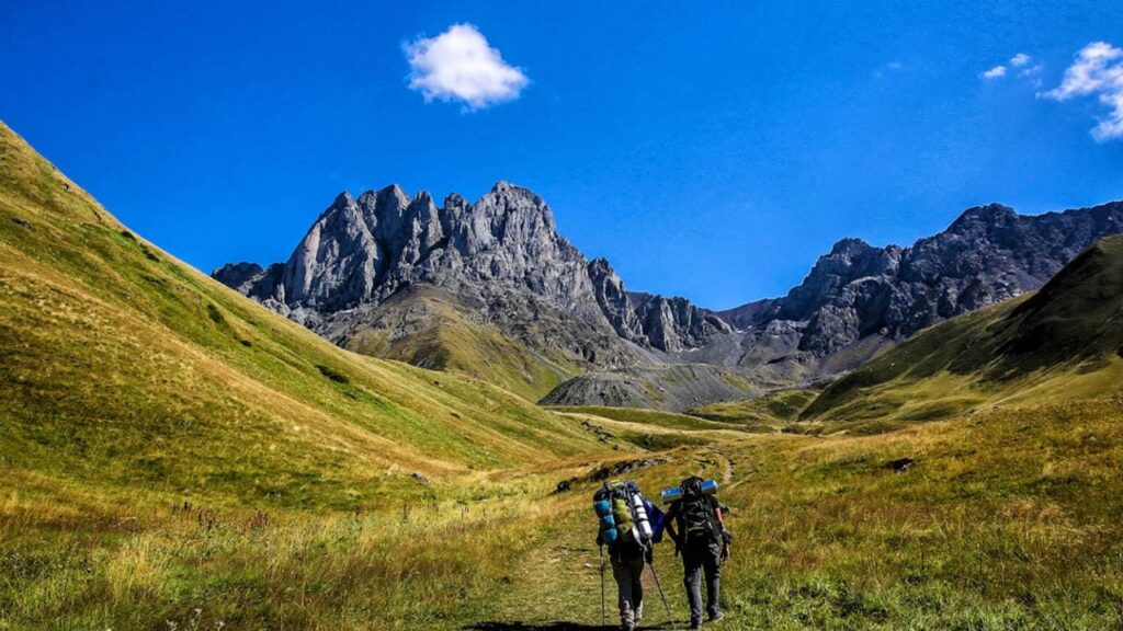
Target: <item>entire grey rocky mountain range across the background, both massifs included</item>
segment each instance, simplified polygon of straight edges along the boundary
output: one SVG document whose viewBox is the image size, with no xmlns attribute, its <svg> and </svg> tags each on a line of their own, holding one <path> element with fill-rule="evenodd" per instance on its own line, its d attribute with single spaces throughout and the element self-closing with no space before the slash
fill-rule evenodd
<svg viewBox="0 0 1123 631">
<path fill-rule="evenodd" d="M 627 404 L 704 375 L 663 397 L 681 409 L 851 369 L 921 329 L 1040 287 L 1121 231 L 1121 202 L 1040 216 L 977 207 L 910 247 L 842 239 L 787 295 L 715 312 L 629 291 L 527 189 L 500 182 L 476 202 L 450 194 L 438 207 L 392 185 L 341 193 L 289 260 L 213 276 L 362 353 L 535 399 L 579 376 L 555 403 Z M 716 368 L 666 369 L 702 364 Z"/>
</svg>

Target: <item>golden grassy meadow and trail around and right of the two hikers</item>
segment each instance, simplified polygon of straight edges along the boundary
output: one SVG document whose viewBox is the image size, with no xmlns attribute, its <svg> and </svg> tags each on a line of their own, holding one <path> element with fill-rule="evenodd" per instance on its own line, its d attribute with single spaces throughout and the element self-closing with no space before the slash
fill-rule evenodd
<svg viewBox="0 0 1123 631">
<path fill-rule="evenodd" d="M 870 437 L 754 435 L 670 455 L 629 475 L 652 495 L 688 473 L 718 479 L 736 539 L 722 569 L 730 618 L 714 629 L 1123 624 L 1117 401 L 1026 405 Z M 548 545 L 514 574 L 497 620 L 472 629 L 597 628 L 591 486 L 577 491 L 548 501 L 559 506 Z M 681 561 L 661 545 L 655 563 L 682 621 Z M 647 586 L 647 622 L 670 628 L 649 576 Z"/>
</svg>

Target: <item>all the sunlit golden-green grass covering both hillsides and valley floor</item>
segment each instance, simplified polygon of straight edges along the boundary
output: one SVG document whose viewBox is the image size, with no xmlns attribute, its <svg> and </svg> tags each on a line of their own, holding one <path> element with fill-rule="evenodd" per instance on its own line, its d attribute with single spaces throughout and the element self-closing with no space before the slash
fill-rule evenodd
<svg viewBox="0 0 1123 631">
<path fill-rule="evenodd" d="M 4 631 L 596 624 L 593 474 L 628 463 L 651 497 L 719 479 L 724 629 L 1123 627 L 1123 360 L 987 388 L 944 369 L 1017 303 L 875 362 L 813 422 L 796 394 L 722 412 L 786 432 L 555 413 L 343 351 L 131 235 L 6 127 L 0 158 Z M 658 548 L 682 621 L 678 563 Z"/>
</svg>

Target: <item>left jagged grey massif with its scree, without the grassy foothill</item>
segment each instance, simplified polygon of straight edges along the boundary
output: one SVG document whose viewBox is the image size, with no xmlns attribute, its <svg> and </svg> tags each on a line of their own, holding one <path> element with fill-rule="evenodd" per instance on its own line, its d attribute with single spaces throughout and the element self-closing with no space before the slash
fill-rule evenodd
<svg viewBox="0 0 1123 631">
<path fill-rule="evenodd" d="M 212 275 L 339 344 L 371 339 L 369 329 L 420 335 L 382 330 L 378 307 L 409 287 L 439 287 L 463 321 L 519 339 L 557 374 L 569 359 L 596 368 L 658 363 L 645 349 L 674 353 L 730 330 L 683 299 L 636 303 L 608 262 L 587 263 L 558 234 L 541 198 L 505 182 L 475 203 L 453 194 L 439 208 L 398 186 L 343 193 L 285 263 L 230 264 Z"/>
</svg>

